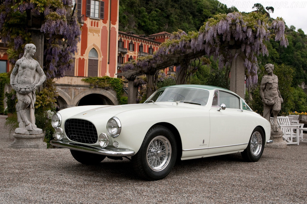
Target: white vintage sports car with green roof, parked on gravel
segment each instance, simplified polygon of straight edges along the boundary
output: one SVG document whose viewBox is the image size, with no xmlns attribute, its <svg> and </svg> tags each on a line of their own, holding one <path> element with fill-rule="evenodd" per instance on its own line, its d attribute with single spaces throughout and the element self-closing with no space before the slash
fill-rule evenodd
<svg viewBox="0 0 307 204">
<path fill-rule="evenodd" d="M 220 87 L 163 87 L 143 104 L 77 106 L 52 116 L 56 139 L 87 165 L 106 156 L 131 156 L 148 180 L 162 179 L 176 159 L 186 160 L 241 152 L 258 161 L 270 140 L 270 123 L 235 93 Z"/>
</svg>

